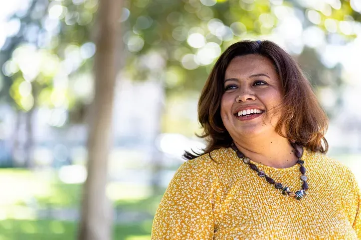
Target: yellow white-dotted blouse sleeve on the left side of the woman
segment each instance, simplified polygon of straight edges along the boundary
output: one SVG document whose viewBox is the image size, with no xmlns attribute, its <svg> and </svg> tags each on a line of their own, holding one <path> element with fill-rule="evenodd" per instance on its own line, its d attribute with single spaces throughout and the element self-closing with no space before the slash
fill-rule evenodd
<svg viewBox="0 0 361 240">
<path fill-rule="evenodd" d="M 219 181 L 212 163 L 198 159 L 183 163 L 174 175 L 153 220 L 152 240 L 213 239 Z"/>
</svg>

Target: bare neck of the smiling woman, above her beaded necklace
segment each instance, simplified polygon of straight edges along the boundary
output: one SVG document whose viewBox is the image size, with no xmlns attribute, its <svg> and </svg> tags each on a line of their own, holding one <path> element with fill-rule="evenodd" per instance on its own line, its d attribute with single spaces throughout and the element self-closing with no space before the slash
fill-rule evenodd
<svg viewBox="0 0 361 240">
<path fill-rule="evenodd" d="M 247 158 L 263 165 L 286 168 L 296 164 L 295 151 L 280 135 L 234 139 L 234 144 Z M 302 153 L 302 149 L 300 150 Z"/>
</svg>

